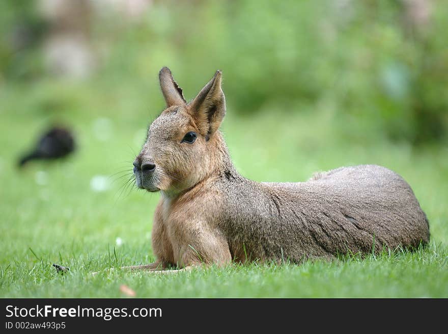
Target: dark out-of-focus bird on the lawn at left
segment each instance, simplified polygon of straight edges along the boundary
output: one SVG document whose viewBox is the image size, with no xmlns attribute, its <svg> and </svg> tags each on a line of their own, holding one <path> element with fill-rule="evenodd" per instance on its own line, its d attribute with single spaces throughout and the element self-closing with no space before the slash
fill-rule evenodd
<svg viewBox="0 0 448 334">
<path fill-rule="evenodd" d="M 20 159 L 19 166 L 22 167 L 31 160 L 62 158 L 74 149 L 75 140 L 71 132 L 63 127 L 53 127 L 40 137 L 30 153 Z"/>
</svg>

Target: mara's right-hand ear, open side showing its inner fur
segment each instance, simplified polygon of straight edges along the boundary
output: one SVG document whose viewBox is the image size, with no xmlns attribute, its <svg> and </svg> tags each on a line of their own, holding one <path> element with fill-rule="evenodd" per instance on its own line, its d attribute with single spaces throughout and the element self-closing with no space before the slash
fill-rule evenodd
<svg viewBox="0 0 448 334">
<path fill-rule="evenodd" d="M 221 89 L 221 71 L 216 71 L 212 80 L 190 102 L 188 111 L 206 140 L 218 130 L 226 115 L 226 99 Z"/>
</svg>

